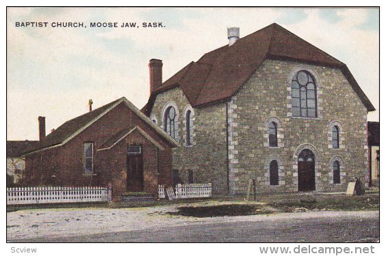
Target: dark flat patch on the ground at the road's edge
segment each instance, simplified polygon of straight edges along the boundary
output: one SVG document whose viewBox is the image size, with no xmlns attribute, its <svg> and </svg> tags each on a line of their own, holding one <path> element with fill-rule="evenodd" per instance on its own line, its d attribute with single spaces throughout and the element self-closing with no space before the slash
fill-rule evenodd
<svg viewBox="0 0 386 256">
<path fill-rule="evenodd" d="M 168 214 L 205 218 L 216 216 L 270 214 L 273 212 L 273 210 L 267 209 L 262 205 L 226 204 L 208 206 L 181 206 L 178 208 L 178 212 L 168 212 Z"/>
</svg>

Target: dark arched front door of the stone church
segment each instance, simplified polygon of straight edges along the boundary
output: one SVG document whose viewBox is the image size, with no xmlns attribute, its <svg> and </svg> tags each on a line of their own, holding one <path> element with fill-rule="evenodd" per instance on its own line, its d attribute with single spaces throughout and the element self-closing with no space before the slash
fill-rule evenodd
<svg viewBox="0 0 386 256">
<path fill-rule="evenodd" d="M 315 157 L 311 150 L 303 150 L 298 156 L 298 190 L 315 190 Z"/>
</svg>

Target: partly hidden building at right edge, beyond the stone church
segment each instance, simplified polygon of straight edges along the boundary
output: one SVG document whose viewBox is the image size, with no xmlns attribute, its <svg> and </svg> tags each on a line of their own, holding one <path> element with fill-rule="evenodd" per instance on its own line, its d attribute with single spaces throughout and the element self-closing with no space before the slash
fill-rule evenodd
<svg viewBox="0 0 386 256">
<path fill-rule="evenodd" d="M 370 186 L 379 186 L 379 135 L 379 122 L 368 122 Z"/>
</svg>

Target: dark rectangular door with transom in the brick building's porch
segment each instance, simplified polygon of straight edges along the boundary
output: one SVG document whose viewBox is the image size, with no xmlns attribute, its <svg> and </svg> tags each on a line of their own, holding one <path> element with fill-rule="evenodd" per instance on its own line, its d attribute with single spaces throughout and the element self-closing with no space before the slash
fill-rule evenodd
<svg viewBox="0 0 386 256">
<path fill-rule="evenodd" d="M 127 191 L 141 192 L 144 190 L 144 170 L 142 147 L 127 146 Z"/>
</svg>

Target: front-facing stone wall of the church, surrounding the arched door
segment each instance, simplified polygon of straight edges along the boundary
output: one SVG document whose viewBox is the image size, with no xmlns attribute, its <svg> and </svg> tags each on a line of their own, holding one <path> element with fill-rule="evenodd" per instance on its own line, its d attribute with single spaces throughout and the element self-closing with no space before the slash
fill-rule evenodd
<svg viewBox="0 0 386 256">
<path fill-rule="evenodd" d="M 317 83 L 318 117 L 292 117 L 292 75 L 307 70 Z M 316 190 L 343 191 L 352 177 L 368 179 L 367 109 L 339 69 L 292 61 L 264 61 L 229 104 L 232 118 L 230 191 L 246 193 L 248 179 L 259 192 L 298 190 L 297 156 L 315 154 Z M 278 124 L 278 147 L 269 147 L 268 123 Z M 340 147 L 331 146 L 331 126 L 340 128 Z M 236 159 L 236 160 L 235 160 Z M 279 185 L 269 182 L 271 160 L 279 163 Z M 333 184 L 333 160 L 341 162 L 341 184 Z"/>
</svg>

